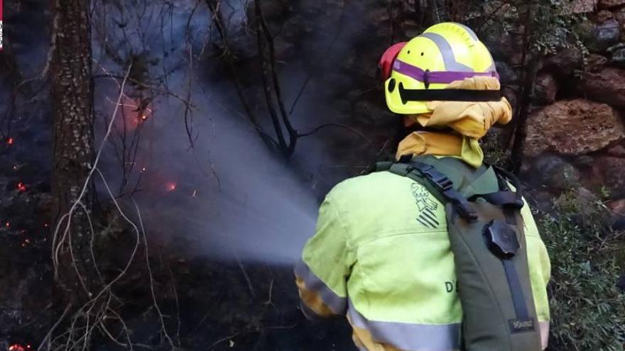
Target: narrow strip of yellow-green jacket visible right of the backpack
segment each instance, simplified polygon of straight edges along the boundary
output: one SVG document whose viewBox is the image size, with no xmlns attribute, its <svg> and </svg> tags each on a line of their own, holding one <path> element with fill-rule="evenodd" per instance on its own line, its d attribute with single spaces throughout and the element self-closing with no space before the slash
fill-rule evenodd
<svg viewBox="0 0 625 351">
<path fill-rule="evenodd" d="M 529 206 L 523 206 L 523 225 L 526 232 L 526 245 L 528 252 L 528 266 L 532 284 L 532 294 L 540 325 L 540 340 L 543 343 L 543 350 L 548 346 L 549 340 L 549 299 L 547 295 L 547 284 L 551 276 L 551 263 L 547 249 L 543 240 L 540 239 L 538 227 L 532 216 Z"/>
</svg>

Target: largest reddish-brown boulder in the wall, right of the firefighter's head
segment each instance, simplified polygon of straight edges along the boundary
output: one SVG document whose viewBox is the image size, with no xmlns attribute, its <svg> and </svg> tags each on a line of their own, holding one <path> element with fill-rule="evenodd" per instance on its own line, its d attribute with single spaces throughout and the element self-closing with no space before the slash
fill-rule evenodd
<svg viewBox="0 0 625 351">
<path fill-rule="evenodd" d="M 584 99 L 558 101 L 533 113 L 528 120 L 526 154 L 545 151 L 582 155 L 624 138 L 619 113 L 606 104 Z"/>
</svg>

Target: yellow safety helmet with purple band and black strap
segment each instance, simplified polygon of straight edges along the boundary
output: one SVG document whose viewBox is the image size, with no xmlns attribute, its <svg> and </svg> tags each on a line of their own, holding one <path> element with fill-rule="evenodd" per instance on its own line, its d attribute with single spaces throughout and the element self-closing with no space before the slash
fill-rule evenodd
<svg viewBox="0 0 625 351">
<path fill-rule="evenodd" d="M 431 112 L 427 101 L 499 101 L 499 90 L 446 89 L 475 76 L 499 79 L 495 62 L 473 30 L 459 23 L 438 23 L 408 43 L 389 48 L 380 68 L 391 111 Z"/>
</svg>

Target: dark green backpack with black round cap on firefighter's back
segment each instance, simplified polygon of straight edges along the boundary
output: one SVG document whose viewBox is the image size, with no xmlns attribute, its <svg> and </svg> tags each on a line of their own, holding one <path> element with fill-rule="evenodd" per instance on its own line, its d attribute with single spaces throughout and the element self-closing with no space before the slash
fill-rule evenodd
<svg viewBox="0 0 625 351">
<path fill-rule="evenodd" d="M 445 204 L 463 311 L 462 350 L 540 351 L 518 179 L 454 157 L 402 157 L 378 163 L 376 171 L 413 179 Z"/>
</svg>

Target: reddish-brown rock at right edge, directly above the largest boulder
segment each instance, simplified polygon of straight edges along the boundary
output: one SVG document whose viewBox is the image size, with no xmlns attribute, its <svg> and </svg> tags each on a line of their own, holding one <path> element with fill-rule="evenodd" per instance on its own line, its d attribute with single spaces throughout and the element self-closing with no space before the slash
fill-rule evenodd
<svg viewBox="0 0 625 351">
<path fill-rule="evenodd" d="M 607 67 L 583 75 L 582 91 L 590 99 L 611 106 L 625 107 L 625 70 Z"/>
</svg>

